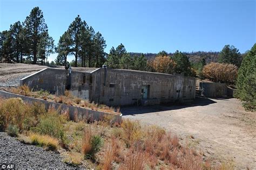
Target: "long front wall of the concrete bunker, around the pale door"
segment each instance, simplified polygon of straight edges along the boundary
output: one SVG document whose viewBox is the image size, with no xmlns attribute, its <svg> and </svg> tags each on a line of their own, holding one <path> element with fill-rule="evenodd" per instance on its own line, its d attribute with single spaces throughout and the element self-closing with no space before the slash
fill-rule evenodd
<svg viewBox="0 0 256 170">
<path fill-rule="evenodd" d="M 143 86 L 149 90 L 147 99 L 142 100 Z M 193 100 L 195 95 L 196 79 L 192 77 L 103 68 L 92 72 L 90 99 L 97 103 L 117 106 L 184 102 Z"/>
</svg>

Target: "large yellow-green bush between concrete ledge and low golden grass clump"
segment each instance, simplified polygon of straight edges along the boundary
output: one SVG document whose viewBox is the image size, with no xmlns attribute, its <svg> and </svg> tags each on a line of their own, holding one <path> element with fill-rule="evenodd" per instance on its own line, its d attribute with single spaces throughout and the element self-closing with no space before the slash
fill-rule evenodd
<svg viewBox="0 0 256 170">
<path fill-rule="evenodd" d="M 56 110 L 50 108 L 46 114 L 39 115 L 39 123 L 36 131 L 55 138 L 64 139 L 65 118 L 59 115 Z"/>
</svg>

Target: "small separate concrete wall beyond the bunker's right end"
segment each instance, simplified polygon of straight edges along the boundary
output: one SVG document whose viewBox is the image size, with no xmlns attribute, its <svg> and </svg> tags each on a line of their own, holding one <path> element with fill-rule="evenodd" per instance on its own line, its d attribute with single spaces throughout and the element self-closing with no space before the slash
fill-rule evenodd
<svg viewBox="0 0 256 170">
<path fill-rule="evenodd" d="M 205 97 L 227 97 L 227 85 L 225 83 L 200 82 L 199 91 Z"/>
</svg>

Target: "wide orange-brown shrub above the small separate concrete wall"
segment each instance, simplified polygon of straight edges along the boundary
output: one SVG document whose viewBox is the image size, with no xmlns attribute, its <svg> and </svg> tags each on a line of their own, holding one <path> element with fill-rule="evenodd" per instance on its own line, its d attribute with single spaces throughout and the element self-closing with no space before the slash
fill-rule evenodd
<svg viewBox="0 0 256 170">
<path fill-rule="evenodd" d="M 217 83 L 232 84 L 237 79 L 237 66 L 224 63 L 210 63 L 204 66 L 203 75 Z"/>
</svg>

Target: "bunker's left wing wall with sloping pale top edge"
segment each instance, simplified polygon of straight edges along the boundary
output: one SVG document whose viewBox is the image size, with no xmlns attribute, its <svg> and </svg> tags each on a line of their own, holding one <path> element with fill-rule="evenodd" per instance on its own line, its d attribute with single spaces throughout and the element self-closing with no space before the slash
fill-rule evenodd
<svg viewBox="0 0 256 170">
<path fill-rule="evenodd" d="M 73 96 L 89 99 L 90 73 L 71 71 L 69 80 L 69 70 L 46 68 L 21 79 L 20 84 L 26 84 L 33 90 L 43 89 L 57 95 L 64 94 L 68 89 Z"/>
</svg>

